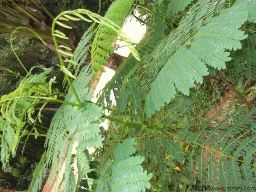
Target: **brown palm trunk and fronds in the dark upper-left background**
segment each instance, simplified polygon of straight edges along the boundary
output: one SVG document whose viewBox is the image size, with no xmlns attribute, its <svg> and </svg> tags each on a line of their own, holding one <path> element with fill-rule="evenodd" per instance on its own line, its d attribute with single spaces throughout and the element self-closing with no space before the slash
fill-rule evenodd
<svg viewBox="0 0 256 192">
<path fill-rule="evenodd" d="M 34 30 L 38 35 L 40 35 L 45 42 L 47 47 L 55 51 L 55 45 L 52 41 L 52 22 L 58 15 L 57 11 L 50 11 L 44 6 L 41 0 L 26 0 L 25 3 L 20 3 L 16 5 L 17 1 L 8 1 L 8 3 L 0 3 L 0 37 L 11 37 L 12 32 L 19 26 L 26 26 L 29 29 Z M 36 5 L 36 6 L 35 6 Z M 64 23 L 72 26 L 73 29 L 66 29 L 62 26 L 56 27 L 56 30 L 63 32 L 69 39 L 58 38 L 59 44 L 75 49 L 78 42 L 81 39 L 81 35 L 76 32 L 76 25 L 70 21 L 63 21 Z M 13 35 L 19 38 L 33 38 L 35 41 L 41 43 L 41 41 L 35 36 L 34 33 L 19 30 Z M 63 55 L 64 56 L 64 55 Z M 108 59 L 107 67 L 116 70 L 125 57 L 113 54 Z M 90 60 L 90 54 L 88 59 Z"/>
</svg>

